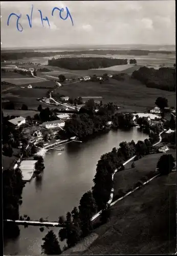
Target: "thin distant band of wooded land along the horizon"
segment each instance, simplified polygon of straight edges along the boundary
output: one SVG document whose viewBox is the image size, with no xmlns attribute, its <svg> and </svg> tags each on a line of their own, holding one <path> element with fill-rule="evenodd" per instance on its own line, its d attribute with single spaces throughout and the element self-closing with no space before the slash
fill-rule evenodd
<svg viewBox="0 0 177 256">
<path fill-rule="evenodd" d="M 84 50 L 84 51 L 64 51 L 64 52 L 34 52 L 34 51 L 26 51 L 26 52 L 18 52 L 18 51 L 2 51 L 2 61 L 4 60 L 17 60 L 23 58 L 33 58 L 33 57 L 49 57 L 55 55 L 65 55 L 65 54 L 123 54 L 123 55 L 148 55 L 149 53 L 164 53 L 171 54 L 171 51 L 147 51 L 147 50 Z"/>
</svg>

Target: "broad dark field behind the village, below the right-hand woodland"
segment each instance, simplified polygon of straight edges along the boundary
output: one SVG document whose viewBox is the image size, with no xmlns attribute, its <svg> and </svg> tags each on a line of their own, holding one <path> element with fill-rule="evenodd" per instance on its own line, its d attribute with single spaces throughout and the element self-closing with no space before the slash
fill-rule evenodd
<svg viewBox="0 0 177 256">
<path fill-rule="evenodd" d="M 160 96 L 166 97 L 170 106 L 175 105 L 175 93 L 147 88 L 128 75 L 124 81 L 109 79 L 102 84 L 90 81 L 68 84 L 58 89 L 56 93 L 72 98 L 103 97 L 103 102 L 115 102 L 125 108 L 125 112 L 144 112 L 149 108 L 154 108 L 154 102 Z"/>
</svg>

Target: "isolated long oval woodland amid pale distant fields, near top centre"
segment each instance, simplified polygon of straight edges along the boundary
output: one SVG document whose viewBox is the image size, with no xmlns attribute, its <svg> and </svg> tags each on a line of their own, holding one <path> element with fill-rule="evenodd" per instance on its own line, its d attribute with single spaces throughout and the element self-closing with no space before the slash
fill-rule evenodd
<svg viewBox="0 0 177 256">
<path fill-rule="evenodd" d="M 115 65 L 125 65 L 127 59 L 112 59 L 102 57 L 80 57 L 49 59 L 48 65 L 70 70 L 88 70 L 107 68 Z"/>
</svg>

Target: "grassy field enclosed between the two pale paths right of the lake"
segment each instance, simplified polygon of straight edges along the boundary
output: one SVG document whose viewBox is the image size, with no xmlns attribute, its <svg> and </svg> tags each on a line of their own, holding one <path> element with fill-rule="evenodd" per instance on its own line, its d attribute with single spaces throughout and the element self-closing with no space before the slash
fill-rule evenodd
<svg viewBox="0 0 177 256">
<path fill-rule="evenodd" d="M 169 151 L 167 154 L 169 154 Z M 170 154 L 176 158 L 174 150 L 171 150 Z M 145 176 L 152 178 L 152 176 L 156 175 L 156 166 L 162 155 L 162 153 L 159 153 L 144 156 L 135 161 L 135 168 L 131 168 L 132 161 L 127 163 L 125 170 L 114 175 L 114 196 L 117 197 L 119 189 L 122 189 L 125 193 L 128 189 L 134 187 L 141 178 Z"/>
</svg>

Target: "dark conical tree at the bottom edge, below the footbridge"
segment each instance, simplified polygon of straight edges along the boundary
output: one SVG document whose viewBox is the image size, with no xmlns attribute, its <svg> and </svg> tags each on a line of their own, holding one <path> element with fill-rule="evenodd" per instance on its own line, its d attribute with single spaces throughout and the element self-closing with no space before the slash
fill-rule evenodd
<svg viewBox="0 0 177 256">
<path fill-rule="evenodd" d="M 47 255 L 59 255 L 61 254 L 61 249 L 57 240 L 56 235 L 53 230 L 50 230 L 45 238 L 42 238 L 43 245 L 41 245 L 42 252 Z"/>
</svg>

